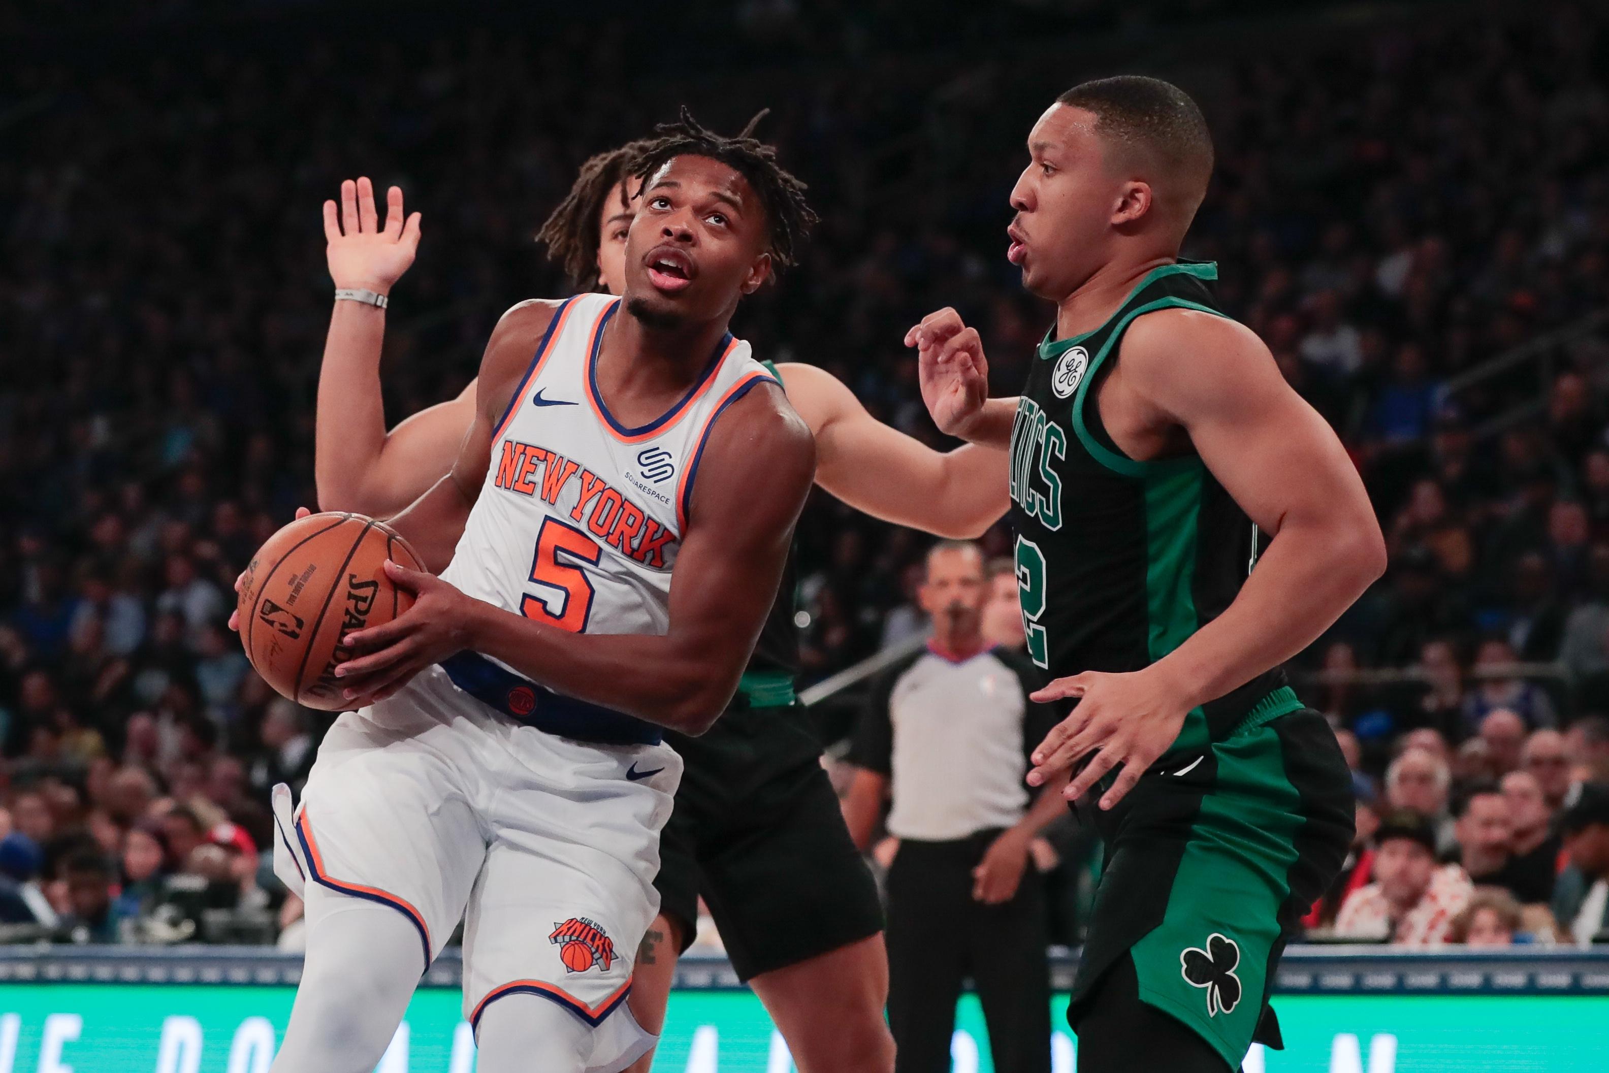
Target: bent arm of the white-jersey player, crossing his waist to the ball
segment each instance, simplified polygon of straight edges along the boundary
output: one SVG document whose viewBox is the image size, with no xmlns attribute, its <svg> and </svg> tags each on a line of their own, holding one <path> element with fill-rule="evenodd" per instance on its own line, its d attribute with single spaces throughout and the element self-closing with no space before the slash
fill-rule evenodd
<svg viewBox="0 0 1609 1073">
<path fill-rule="evenodd" d="M 388 565 L 417 600 L 393 623 L 352 635 L 359 652 L 373 655 L 338 671 L 348 697 L 386 697 L 470 648 L 570 697 L 703 734 L 732 700 L 759 639 L 814 470 L 814 441 L 780 391 L 761 384 L 726 410 L 698 467 L 663 635 L 571 634 Z M 397 520 L 409 539 L 414 510 Z"/>
</svg>

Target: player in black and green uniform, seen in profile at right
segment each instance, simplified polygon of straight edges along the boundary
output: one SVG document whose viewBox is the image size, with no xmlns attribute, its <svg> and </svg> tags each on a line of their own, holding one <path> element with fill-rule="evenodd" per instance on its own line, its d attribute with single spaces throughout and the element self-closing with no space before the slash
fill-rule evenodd
<svg viewBox="0 0 1609 1073">
<path fill-rule="evenodd" d="M 1075 771 L 1105 838 L 1068 1022 L 1078 1068 L 1223 1073 L 1279 1046 L 1268 988 L 1352 838 L 1347 764 L 1281 661 L 1385 568 L 1363 481 L 1179 245 L 1212 138 L 1142 77 L 1064 93 L 1028 135 L 1009 259 L 1057 304 L 1020 399 L 978 335 L 911 330 L 938 426 L 1010 446 L 1027 647 L 1073 701 L 1030 782 Z M 1261 539 L 1258 539 L 1261 534 Z"/>
</svg>

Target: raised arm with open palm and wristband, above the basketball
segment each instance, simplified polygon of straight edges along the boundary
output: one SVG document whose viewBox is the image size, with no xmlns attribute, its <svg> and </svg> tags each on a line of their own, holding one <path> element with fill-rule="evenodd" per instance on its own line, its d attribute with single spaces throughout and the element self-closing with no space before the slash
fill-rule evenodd
<svg viewBox="0 0 1609 1073">
<path fill-rule="evenodd" d="M 386 222 L 375 211 L 367 179 L 341 183 L 323 206 L 325 256 L 338 288 L 389 294 L 414 264 L 420 214 L 405 217 L 402 191 L 391 187 Z M 407 418 L 386 433 L 380 394 L 380 349 L 386 310 L 362 302 L 336 302 L 319 370 L 314 476 L 322 510 L 391 515 L 436 483 L 451 467 L 475 415 L 473 384 L 457 399 Z"/>
</svg>

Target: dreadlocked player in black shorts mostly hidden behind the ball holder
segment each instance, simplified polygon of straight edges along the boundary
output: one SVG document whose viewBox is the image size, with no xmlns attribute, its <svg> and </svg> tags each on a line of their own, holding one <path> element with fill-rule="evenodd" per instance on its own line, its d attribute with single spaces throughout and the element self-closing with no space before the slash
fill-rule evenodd
<svg viewBox="0 0 1609 1073">
<path fill-rule="evenodd" d="M 669 137 L 681 135 L 661 135 Z M 549 256 L 574 286 L 623 291 L 626 238 L 640 206 L 629 175 L 642 171 L 637 161 L 658 142 L 632 142 L 589 159 L 542 227 Z M 451 465 L 468 426 L 473 384 L 388 434 L 378 359 L 378 336 L 367 349 L 325 354 L 317 463 L 327 510 L 385 515 L 412 502 Z M 941 536 L 977 536 L 1001 516 L 1004 452 L 935 452 L 877 421 L 833 375 L 796 362 L 774 370 L 814 433 L 816 483 L 825 491 Z M 946 505 L 943 513 L 936 504 Z M 766 1002 L 800 1070 L 887 1070 L 877 894 L 795 701 L 796 668 L 790 561 L 727 713 L 703 737 L 671 735 L 685 771 L 661 835 L 655 880 L 661 915 L 644 938 L 629 1002 L 645 1028 L 658 1028 L 676 957 L 693 939 L 702 893 L 734 967 Z M 985 901 L 1004 901 L 1015 890 L 1018 841 L 1027 840 L 1014 835 L 991 854 Z M 647 1065 L 645 1057 L 640 1067 Z"/>
</svg>

